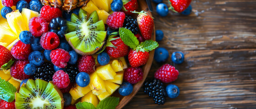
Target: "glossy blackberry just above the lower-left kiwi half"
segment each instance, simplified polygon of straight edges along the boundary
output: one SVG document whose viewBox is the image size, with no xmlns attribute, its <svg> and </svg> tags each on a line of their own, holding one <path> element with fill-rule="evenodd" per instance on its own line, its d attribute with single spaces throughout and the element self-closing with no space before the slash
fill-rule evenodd
<svg viewBox="0 0 256 109">
<path fill-rule="evenodd" d="M 37 67 L 36 73 L 34 74 L 35 79 L 43 79 L 47 82 L 52 81 L 53 74 L 54 74 L 54 68 L 53 64 L 50 62 L 44 62 L 43 65 Z"/>
</svg>

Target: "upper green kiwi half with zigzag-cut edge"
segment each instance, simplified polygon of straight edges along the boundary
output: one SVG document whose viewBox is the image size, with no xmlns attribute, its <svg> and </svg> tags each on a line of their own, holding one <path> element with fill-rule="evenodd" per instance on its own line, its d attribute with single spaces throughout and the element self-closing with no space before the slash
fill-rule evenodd
<svg viewBox="0 0 256 109">
<path fill-rule="evenodd" d="M 67 26 L 65 38 L 76 53 L 95 54 L 103 47 L 107 32 L 103 20 L 98 20 L 97 11 L 93 11 L 87 19 L 87 12 L 80 9 L 79 15 L 72 13 Z"/>
</svg>

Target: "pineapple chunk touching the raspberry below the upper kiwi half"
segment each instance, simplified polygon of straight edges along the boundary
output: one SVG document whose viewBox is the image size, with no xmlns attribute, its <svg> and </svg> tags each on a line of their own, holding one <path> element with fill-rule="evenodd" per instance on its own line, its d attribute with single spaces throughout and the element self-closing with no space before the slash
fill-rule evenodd
<svg viewBox="0 0 256 109">
<path fill-rule="evenodd" d="M 110 64 L 97 67 L 95 72 L 103 80 L 114 79 L 116 74 Z"/>
</svg>

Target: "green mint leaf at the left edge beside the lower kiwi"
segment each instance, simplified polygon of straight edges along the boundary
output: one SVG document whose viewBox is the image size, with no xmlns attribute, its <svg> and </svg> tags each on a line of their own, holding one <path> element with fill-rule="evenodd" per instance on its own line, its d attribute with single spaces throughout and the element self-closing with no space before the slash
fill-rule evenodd
<svg viewBox="0 0 256 109">
<path fill-rule="evenodd" d="M 0 78 L 0 99 L 12 102 L 15 99 L 15 92 L 16 88 L 11 83 Z"/>
</svg>

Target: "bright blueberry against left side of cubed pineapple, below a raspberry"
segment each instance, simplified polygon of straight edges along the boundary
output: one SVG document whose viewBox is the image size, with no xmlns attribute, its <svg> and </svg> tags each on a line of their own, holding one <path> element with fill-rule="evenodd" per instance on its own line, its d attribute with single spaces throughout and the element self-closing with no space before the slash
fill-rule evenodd
<svg viewBox="0 0 256 109">
<path fill-rule="evenodd" d="M 76 84 L 80 87 L 86 87 L 90 83 L 90 76 L 85 72 L 80 72 L 76 75 Z"/>
</svg>

